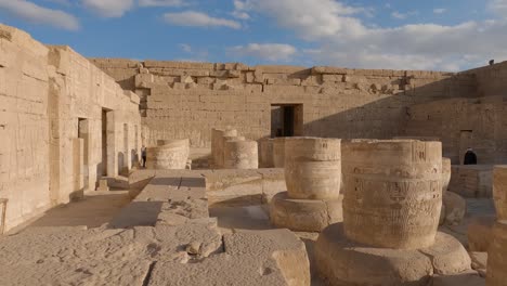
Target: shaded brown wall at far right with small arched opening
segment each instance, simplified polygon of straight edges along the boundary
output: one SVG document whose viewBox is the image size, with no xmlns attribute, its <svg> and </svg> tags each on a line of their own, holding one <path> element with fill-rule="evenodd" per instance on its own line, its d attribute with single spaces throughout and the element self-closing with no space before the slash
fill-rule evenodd
<svg viewBox="0 0 507 286">
<path fill-rule="evenodd" d="M 438 136 L 443 154 L 463 164 L 472 147 L 479 164 L 507 161 L 507 98 L 448 99 L 411 106 L 406 135 Z"/>
</svg>

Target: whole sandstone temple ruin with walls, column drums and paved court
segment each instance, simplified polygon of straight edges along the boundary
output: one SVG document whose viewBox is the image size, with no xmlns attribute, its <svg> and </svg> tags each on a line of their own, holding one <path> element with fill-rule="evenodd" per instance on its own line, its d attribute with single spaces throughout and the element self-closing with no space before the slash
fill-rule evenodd
<svg viewBox="0 0 507 286">
<path fill-rule="evenodd" d="M 507 285 L 506 77 L 84 58 L 0 25 L 0 285 Z M 115 192 L 99 226 L 37 226 Z"/>
</svg>

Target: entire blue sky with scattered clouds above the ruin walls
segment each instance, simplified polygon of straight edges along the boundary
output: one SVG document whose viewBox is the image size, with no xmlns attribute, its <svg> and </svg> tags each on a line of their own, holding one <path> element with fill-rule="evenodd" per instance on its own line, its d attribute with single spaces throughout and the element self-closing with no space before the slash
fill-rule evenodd
<svg viewBox="0 0 507 286">
<path fill-rule="evenodd" d="M 507 0 L 0 0 L 93 57 L 463 70 L 507 60 Z"/>
</svg>

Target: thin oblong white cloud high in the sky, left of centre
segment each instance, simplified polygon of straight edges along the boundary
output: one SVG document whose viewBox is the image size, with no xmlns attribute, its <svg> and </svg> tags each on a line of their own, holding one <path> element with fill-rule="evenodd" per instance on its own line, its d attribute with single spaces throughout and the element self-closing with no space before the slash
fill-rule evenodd
<svg viewBox="0 0 507 286">
<path fill-rule="evenodd" d="M 167 23 L 179 25 L 179 26 L 188 26 L 188 27 L 227 27 L 233 29 L 239 29 L 242 24 L 236 21 L 211 17 L 208 14 L 196 12 L 196 11 L 185 11 L 181 13 L 166 13 L 164 14 L 164 20 Z"/>
</svg>

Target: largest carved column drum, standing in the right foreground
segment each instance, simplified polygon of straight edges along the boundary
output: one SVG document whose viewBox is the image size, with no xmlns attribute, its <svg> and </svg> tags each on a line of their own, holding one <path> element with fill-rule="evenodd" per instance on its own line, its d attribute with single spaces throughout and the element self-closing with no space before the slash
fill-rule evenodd
<svg viewBox="0 0 507 286">
<path fill-rule="evenodd" d="M 442 206 L 442 144 L 355 140 L 342 154 L 347 237 L 380 248 L 431 246 Z"/>
</svg>

